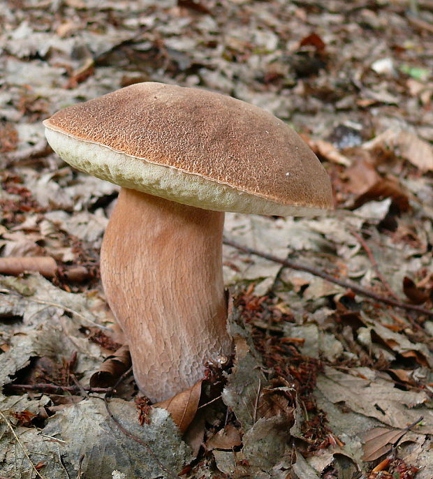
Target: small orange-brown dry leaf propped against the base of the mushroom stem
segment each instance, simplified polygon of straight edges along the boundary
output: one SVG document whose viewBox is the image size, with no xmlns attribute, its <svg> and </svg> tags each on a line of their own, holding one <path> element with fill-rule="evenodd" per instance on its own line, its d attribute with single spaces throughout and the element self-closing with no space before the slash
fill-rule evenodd
<svg viewBox="0 0 433 479">
<path fill-rule="evenodd" d="M 196 415 L 201 395 L 201 383 L 202 381 L 198 381 L 189 390 L 179 392 L 171 399 L 154 404 L 155 407 L 164 408 L 170 413 L 182 433 L 186 431 Z"/>
</svg>

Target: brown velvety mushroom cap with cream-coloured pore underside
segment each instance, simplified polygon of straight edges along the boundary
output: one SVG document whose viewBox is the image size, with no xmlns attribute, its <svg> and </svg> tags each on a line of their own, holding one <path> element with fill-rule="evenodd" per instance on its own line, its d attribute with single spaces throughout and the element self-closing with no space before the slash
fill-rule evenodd
<svg viewBox="0 0 433 479">
<path fill-rule="evenodd" d="M 318 214 L 333 206 L 325 168 L 284 121 L 203 89 L 133 84 L 44 121 L 78 170 L 203 209 Z"/>
</svg>

